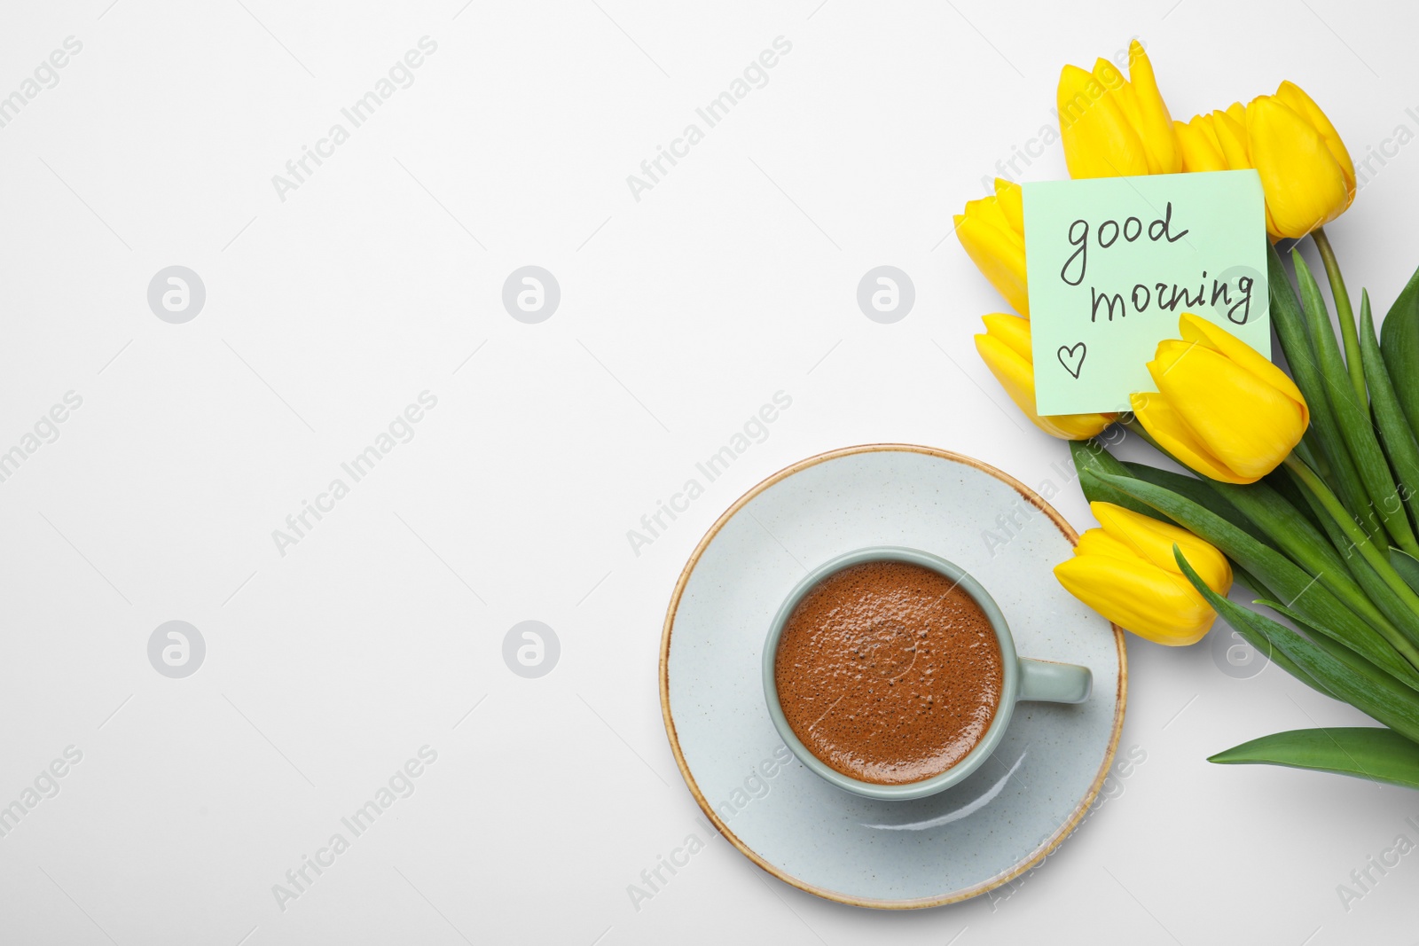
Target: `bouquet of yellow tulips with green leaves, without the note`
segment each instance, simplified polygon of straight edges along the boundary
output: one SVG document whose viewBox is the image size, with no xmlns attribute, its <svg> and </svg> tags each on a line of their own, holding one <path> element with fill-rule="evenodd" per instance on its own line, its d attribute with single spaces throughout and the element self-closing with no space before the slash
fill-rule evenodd
<svg viewBox="0 0 1419 946">
<path fill-rule="evenodd" d="M 1376 336 L 1358 319 L 1323 230 L 1355 196 L 1325 113 L 1291 82 L 1175 122 L 1141 44 L 1130 75 L 1064 67 L 1060 140 L 1071 177 L 1254 169 L 1266 197 L 1270 316 L 1290 373 L 1195 315 L 1148 363 L 1155 391 L 1127 414 L 1039 416 L 1020 189 L 998 180 L 956 234 L 1015 309 L 985 316 L 976 349 L 1019 408 L 1070 441 L 1100 528 L 1056 567 L 1100 614 L 1159 644 L 1199 641 L 1218 614 L 1305 685 L 1381 726 L 1274 733 L 1212 756 L 1419 789 L 1419 272 Z M 1294 244 L 1310 238 L 1325 295 Z M 1277 250 L 1293 244 L 1294 284 Z M 1186 472 L 1112 457 L 1124 424 Z M 1256 608 L 1227 599 L 1236 579 Z M 1269 613 L 1270 614 L 1269 614 Z"/>
</svg>

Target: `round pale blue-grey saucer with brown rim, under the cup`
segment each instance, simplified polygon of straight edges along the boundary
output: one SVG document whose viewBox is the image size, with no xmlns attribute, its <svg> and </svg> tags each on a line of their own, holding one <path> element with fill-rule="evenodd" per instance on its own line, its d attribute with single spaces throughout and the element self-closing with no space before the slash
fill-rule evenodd
<svg viewBox="0 0 1419 946">
<path fill-rule="evenodd" d="M 1054 488 L 1071 488 L 1057 469 Z M 690 556 L 660 645 L 666 732 L 705 816 L 769 874 L 856 906 L 954 903 L 1039 864 L 1098 794 L 1124 722 L 1122 631 L 1051 573 L 1076 539 L 1015 478 L 929 447 L 836 450 L 741 496 Z M 1093 696 L 1020 703 L 986 763 L 927 798 L 866 798 L 813 774 L 765 706 L 765 634 L 806 572 L 873 545 L 961 564 L 999 603 L 1019 651 L 1091 668 Z"/>
</svg>

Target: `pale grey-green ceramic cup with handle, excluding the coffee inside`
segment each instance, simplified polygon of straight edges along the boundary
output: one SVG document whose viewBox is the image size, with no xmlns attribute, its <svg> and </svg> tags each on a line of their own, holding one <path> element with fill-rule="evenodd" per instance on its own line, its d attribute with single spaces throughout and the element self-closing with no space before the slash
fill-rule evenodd
<svg viewBox="0 0 1419 946">
<path fill-rule="evenodd" d="M 861 781 L 837 772 L 826 762 L 815 756 L 793 733 L 793 729 L 789 726 L 789 720 L 783 716 L 783 708 L 779 705 L 779 691 L 778 684 L 775 682 L 773 662 L 779 651 L 779 637 L 783 634 L 783 625 L 788 624 L 789 616 L 793 613 L 793 608 L 797 607 L 799 601 L 802 601 L 819 581 L 849 566 L 861 564 L 864 562 L 910 562 L 912 564 L 920 564 L 924 569 L 931 569 L 938 574 L 944 574 L 975 600 L 975 603 L 985 613 L 986 618 L 990 621 L 990 627 L 995 628 L 995 637 L 1000 642 L 1003 686 L 1000 688 L 1000 703 L 995 711 L 995 719 L 990 720 L 990 726 L 985 730 L 985 736 L 982 736 L 981 742 L 978 742 L 961 762 L 941 774 L 922 779 L 920 781 L 908 781 L 905 784 L 877 784 L 873 781 Z M 1053 661 L 1036 661 L 1016 655 L 1015 638 L 1010 637 L 1010 627 L 1005 621 L 1005 614 L 1000 613 L 1000 607 L 995 603 L 995 599 L 992 599 L 986 590 L 981 587 L 979 581 L 971 577 L 971 574 L 961 566 L 952 564 L 939 556 L 931 555 L 929 552 L 904 549 L 898 546 L 858 549 L 813 569 L 793 587 L 793 591 L 779 607 L 778 614 L 773 617 L 773 623 L 769 625 L 769 637 L 763 644 L 763 695 L 769 703 L 769 716 L 773 718 L 773 726 L 779 730 L 779 736 L 788 745 L 789 750 L 797 756 L 799 762 L 812 769 L 815 773 L 839 789 L 846 789 L 847 791 L 867 796 L 868 798 L 922 798 L 949 789 L 975 772 L 981 763 L 985 762 L 992 752 L 995 752 L 996 746 L 1000 745 L 1000 740 L 1005 738 L 1006 726 L 1010 725 L 1010 715 L 1015 711 L 1015 703 L 1026 699 L 1050 703 L 1083 703 L 1088 699 L 1088 695 L 1093 691 L 1093 684 L 1094 675 L 1087 667 L 1078 667 L 1076 664 L 1056 664 Z"/>
</svg>

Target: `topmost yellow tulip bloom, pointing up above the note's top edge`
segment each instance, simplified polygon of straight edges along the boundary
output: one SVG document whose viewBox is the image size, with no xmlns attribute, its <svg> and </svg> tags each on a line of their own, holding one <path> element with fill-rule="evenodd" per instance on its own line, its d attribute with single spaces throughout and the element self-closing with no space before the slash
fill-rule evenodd
<svg viewBox="0 0 1419 946">
<path fill-rule="evenodd" d="M 1128 74 L 1108 60 L 1093 72 L 1066 65 L 1060 72 L 1060 138 L 1070 177 L 1175 174 L 1182 152 L 1152 62 L 1138 40 L 1128 44 Z"/>
</svg>

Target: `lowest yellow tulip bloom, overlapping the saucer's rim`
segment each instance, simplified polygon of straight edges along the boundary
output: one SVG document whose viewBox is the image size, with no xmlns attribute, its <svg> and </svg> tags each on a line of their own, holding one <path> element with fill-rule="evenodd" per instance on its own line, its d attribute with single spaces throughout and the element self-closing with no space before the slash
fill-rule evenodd
<svg viewBox="0 0 1419 946">
<path fill-rule="evenodd" d="M 1216 611 L 1178 569 L 1172 546 L 1209 589 L 1226 594 L 1232 566 L 1215 546 L 1186 529 L 1111 502 L 1088 508 L 1101 528 L 1074 546 L 1074 557 L 1054 566 L 1064 590 L 1114 624 L 1155 644 L 1196 644 Z"/>
</svg>

